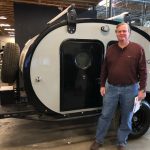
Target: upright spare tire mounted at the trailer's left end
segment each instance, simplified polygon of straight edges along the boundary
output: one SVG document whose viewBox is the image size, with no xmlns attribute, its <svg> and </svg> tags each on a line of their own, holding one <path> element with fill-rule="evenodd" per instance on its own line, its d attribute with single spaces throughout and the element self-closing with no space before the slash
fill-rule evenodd
<svg viewBox="0 0 150 150">
<path fill-rule="evenodd" d="M 14 83 L 19 69 L 20 48 L 18 44 L 6 43 L 3 54 L 1 80 Z"/>
</svg>

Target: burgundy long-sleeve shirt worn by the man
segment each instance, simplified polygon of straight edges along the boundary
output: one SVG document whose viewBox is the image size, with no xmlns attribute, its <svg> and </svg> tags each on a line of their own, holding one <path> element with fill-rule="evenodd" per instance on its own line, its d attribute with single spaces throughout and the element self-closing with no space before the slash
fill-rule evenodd
<svg viewBox="0 0 150 150">
<path fill-rule="evenodd" d="M 145 89 L 146 79 L 145 53 L 139 44 L 129 42 L 122 49 L 116 43 L 107 49 L 101 70 L 101 87 L 108 80 L 110 84 L 122 86 L 139 82 L 140 89 Z"/>
</svg>

